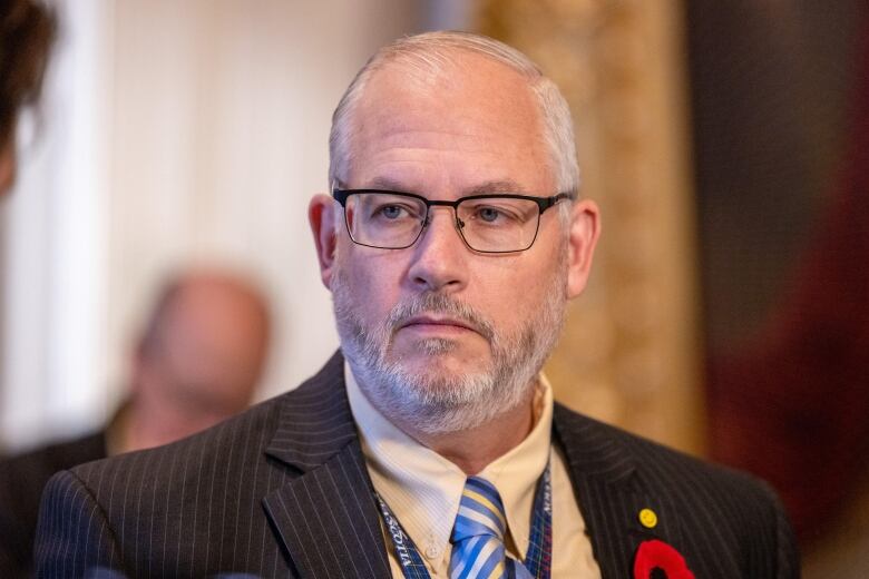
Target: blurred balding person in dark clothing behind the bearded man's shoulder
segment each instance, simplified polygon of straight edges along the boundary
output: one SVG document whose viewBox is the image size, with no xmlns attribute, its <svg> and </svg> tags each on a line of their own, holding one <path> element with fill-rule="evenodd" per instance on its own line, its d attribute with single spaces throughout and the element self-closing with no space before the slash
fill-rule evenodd
<svg viewBox="0 0 869 579">
<path fill-rule="evenodd" d="M 0 463 L 0 577 L 32 573 L 39 499 L 51 474 L 166 444 L 241 412 L 268 337 L 267 304 L 247 282 L 218 272 L 170 282 L 133 353 L 129 398 L 106 429 Z"/>
</svg>

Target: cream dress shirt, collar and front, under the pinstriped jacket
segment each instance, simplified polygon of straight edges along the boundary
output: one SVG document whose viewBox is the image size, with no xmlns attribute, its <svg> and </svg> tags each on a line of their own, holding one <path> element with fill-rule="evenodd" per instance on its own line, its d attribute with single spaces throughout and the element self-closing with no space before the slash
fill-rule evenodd
<svg viewBox="0 0 869 579">
<path fill-rule="evenodd" d="M 404 434 L 372 406 L 346 363 L 344 377 L 374 489 L 419 549 L 431 577 L 448 578 L 450 533 L 465 488 L 465 472 Z M 599 579 L 601 570 L 585 532 L 565 459 L 551 444 L 553 392 L 543 375 L 535 394 L 534 421 L 531 432 L 519 445 L 478 474 L 491 482 L 501 495 L 507 518 L 507 552 L 515 559 L 525 559 L 537 482 L 551 461 L 553 578 Z M 385 530 L 384 539 L 392 577 L 403 578 Z"/>
</svg>

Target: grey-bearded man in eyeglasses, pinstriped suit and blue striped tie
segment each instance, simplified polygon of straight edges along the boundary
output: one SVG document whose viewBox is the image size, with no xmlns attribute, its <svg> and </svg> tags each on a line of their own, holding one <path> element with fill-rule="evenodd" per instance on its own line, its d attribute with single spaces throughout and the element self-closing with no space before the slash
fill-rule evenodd
<svg viewBox="0 0 869 579">
<path fill-rule="evenodd" d="M 330 145 L 309 217 L 341 352 L 198 436 L 56 475 L 43 577 L 798 576 L 768 488 L 553 403 L 598 212 L 526 57 L 398 40 Z"/>
</svg>

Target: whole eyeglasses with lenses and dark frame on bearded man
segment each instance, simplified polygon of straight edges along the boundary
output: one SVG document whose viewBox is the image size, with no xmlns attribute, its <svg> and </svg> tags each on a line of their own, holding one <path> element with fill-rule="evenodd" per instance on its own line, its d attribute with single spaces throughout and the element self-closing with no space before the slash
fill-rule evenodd
<svg viewBox="0 0 869 579">
<path fill-rule="evenodd" d="M 524 252 L 534 245 L 540 215 L 569 193 L 551 197 L 492 194 L 432 200 L 412 193 L 380 189 L 332 189 L 344 208 L 350 238 L 367 247 L 404 249 L 431 223 L 431 207 L 452 207 L 465 245 L 479 253 Z"/>
</svg>

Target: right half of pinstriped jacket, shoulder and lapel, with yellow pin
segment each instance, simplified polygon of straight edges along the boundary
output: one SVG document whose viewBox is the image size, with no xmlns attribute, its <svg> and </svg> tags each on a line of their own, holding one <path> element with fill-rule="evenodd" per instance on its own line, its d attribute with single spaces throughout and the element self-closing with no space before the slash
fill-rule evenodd
<svg viewBox="0 0 869 579">
<path fill-rule="evenodd" d="M 696 577 L 799 577 L 791 527 L 765 483 L 562 405 L 555 429 L 605 577 L 629 577 L 639 544 L 653 539 Z M 641 520 L 644 509 L 654 524 Z"/>
</svg>

